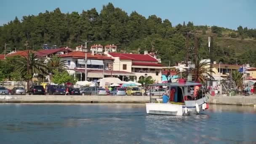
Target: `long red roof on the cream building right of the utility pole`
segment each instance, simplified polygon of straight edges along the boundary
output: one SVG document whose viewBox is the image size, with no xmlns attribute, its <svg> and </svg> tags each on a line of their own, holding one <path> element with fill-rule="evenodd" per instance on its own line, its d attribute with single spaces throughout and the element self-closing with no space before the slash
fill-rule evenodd
<svg viewBox="0 0 256 144">
<path fill-rule="evenodd" d="M 119 57 L 120 59 L 130 59 L 134 61 L 157 61 L 149 54 L 130 54 L 130 53 L 109 53 L 113 57 Z"/>
</svg>

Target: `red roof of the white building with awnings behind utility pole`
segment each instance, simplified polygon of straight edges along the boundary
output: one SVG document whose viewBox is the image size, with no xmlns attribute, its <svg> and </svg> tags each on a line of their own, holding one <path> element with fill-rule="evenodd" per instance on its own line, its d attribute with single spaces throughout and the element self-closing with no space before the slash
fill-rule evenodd
<svg viewBox="0 0 256 144">
<path fill-rule="evenodd" d="M 85 52 L 83 51 L 74 51 L 67 54 L 61 54 L 60 57 L 73 57 L 73 58 L 85 58 Z M 88 59 L 109 59 L 113 60 L 111 57 L 108 56 L 102 56 L 99 54 L 91 55 L 91 53 L 87 53 Z"/>
</svg>

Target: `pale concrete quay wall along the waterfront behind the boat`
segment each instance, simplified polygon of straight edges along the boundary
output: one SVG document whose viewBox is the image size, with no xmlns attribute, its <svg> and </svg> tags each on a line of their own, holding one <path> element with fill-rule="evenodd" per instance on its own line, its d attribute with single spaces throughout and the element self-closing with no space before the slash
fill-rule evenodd
<svg viewBox="0 0 256 144">
<path fill-rule="evenodd" d="M 161 96 L 152 96 L 152 99 Z M 149 96 L 0 96 L 0 103 L 147 103 Z M 256 104 L 256 96 L 210 96 L 210 104 Z"/>
</svg>

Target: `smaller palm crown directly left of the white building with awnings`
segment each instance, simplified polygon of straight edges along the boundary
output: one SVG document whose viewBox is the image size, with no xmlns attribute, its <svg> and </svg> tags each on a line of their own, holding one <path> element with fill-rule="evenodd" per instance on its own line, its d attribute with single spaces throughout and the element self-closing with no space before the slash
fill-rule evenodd
<svg viewBox="0 0 256 144">
<path fill-rule="evenodd" d="M 53 72 L 53 70 L 58 70 L 60 72 L 67 68 L 66 61 L 61 60 L 61 57 L 57 55 L 53 55 L 51 59 L 48 60 L 47 66 L 50 72 Z"/>
</svg>

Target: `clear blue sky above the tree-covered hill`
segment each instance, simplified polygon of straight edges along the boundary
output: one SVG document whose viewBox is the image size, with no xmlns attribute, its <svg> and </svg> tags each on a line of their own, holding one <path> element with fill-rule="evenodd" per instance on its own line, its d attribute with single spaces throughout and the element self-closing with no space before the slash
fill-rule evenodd
<svg viewBox="0 0 256 144">
<path fill-rule="evenodd" d="M 157 15 L 169 19 L 173 26 L 183 21 L 193 21 L 195 25 L 216 25 L 237 29 L 256 28 L 256 0 L 1 0 L 0 25 L 17 16 L 37 15 L 45 10 L 59 7 L 62 12 L 81 12 L 113 3 L 128 14 L 137 11 L 145 17 Z"/>
</svg>

